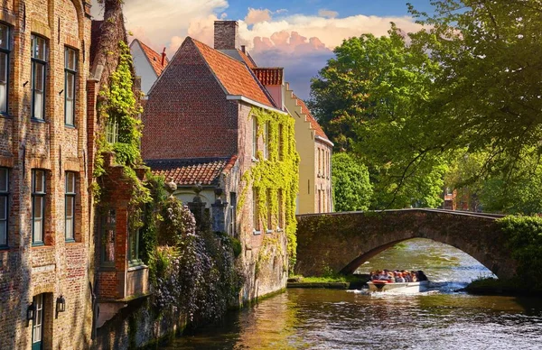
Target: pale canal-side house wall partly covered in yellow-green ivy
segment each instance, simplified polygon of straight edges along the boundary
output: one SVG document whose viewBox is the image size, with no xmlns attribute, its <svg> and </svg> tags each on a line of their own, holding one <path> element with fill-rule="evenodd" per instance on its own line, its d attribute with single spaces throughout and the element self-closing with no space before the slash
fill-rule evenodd
<svg viewBox="0 0 542 350">
<path fill-rule="evenodd" d="M 299 156 L 292 116 L 241 106 L 239 119 L 242 119 L 239 124 L 246 125 L 239 136 L 244 141 L 239 147 L 240 240 L 244 244 L 243 262 L 248 275 L 243 298 L 254 299 L 285 288 L 289 268 L 294 266 Z M 253 120 L 257 124 L 256 157 L 252 156 Z M 253 225 L 253 191 L 257 198 L 259 232 Z M 278 228 L 281 222 L 283 227 Z"/>
</svg>

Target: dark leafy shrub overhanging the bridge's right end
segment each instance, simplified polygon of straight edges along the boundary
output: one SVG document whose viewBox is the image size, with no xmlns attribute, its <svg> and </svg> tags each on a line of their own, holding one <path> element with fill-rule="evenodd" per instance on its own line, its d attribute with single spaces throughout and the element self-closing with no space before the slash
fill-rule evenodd
<svg viewBox="0 0 542 350">
<path fill-rule="evenodd" d="M 526 288 L 542 289 L 542 218 L 506 216 L 498 220 L 510 255 L 518 261 L 517 274 Z"/>
</svg>

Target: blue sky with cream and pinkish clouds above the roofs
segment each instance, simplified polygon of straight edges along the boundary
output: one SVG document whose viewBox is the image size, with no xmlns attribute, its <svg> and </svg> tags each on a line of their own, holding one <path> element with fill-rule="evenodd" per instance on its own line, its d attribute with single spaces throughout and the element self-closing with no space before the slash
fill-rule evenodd
<svg viewBox="0 0 542 350">
<path fill-rule="evenodd" d="M 405 32 L 418 25 L 406 3 L 431 11 L 429 0 L 126 0 L 126 29 L 169 58 L 187 36 L 212 47 L 215 20 L 235 20 L 241 44 L 259 67 L 284 67 L 285 80 L 304 99 L 332 50 L 363 33 L 386 35 L 394 22 Z M 103 14 L 92 0 L 92 14 Z"/>
</svg>

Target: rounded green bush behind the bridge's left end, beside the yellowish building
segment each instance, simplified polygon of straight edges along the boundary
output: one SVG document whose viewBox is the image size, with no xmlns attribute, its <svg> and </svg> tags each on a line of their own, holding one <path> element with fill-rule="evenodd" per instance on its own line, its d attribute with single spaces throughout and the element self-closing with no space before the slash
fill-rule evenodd
<svg viewBox="0 0 542 350">
<path fill-rule="evenodd" d="M 332 155 L 333 201 L 336 211 L 367 210 L 372 186 L 367 167 L 349 153 Z"/>
</svg>

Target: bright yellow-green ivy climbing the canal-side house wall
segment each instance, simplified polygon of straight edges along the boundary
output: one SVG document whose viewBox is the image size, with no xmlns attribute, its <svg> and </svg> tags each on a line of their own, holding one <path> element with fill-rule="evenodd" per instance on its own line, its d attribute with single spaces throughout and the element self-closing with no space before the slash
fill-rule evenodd
<svg viewBox="0 0 542 350">
<path fill-rule="evenodd" d="M 278 226 L 279 214 L 279 191 L 282 192 L 280 206 L 285 211 L 285 235 L 287 237 L 287 254 L 290 270 L 295 264 L 296 238 L 295 230 L 295 198 L 297 196 L 299 180 L 299 155 L 295 151 L 294 119 L 290 115 L 271 112 L 262 108 L 253 107 L 250 118 L 257 122 L 257 137 L 264 137 L 268 149 L 267 159 L 264 152 L 257 150 L 255 165 L 245 172 L 242 180 L 246 184 L 239 198 L 239 207 L 246 201 L 248 189 L 257 191 L 257 208 L 259 219 L 267 230 L 268 212 L 272 216 L 273 226 Z M 267 135 L 265 135 L 267 131 Z M 269 196 L 269 203 L 267 197 Z M 269 210 L 267 210 L 269 208 Z M 266 244 L 260 249 L 260 254 L 268 253 Z M 280 246 L 279 242 L 275 243 Z M 278 252 L 282 253 L 281 250 Z M 265 257 L 258 257 L 258 262 L 263 262 Z"/>
</svg>

